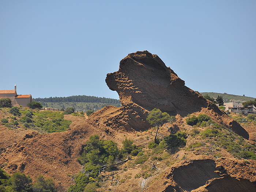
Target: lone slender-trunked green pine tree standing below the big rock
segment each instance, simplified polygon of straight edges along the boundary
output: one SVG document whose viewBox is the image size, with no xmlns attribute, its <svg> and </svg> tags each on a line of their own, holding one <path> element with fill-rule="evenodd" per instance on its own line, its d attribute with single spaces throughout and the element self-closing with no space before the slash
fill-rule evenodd
<svg viewBox="0 0 256 192">
<path fill-rule="evenodd" d="M 169 122 L 171 117 L 168 113 L 162 113 L 160 109 L 153 109 L 151 112 L 148 113 L 147 121 L 151 125 L 155 125 L 157 127 L 157 132 L 160 126 Z M 155 143 L 157 143 L 157 132 L 155 133 Z"/>
</svg>

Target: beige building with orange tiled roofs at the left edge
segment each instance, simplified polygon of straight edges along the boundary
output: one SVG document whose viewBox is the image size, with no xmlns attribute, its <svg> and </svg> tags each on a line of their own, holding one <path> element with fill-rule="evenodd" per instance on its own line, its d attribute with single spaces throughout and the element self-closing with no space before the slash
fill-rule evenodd
<svg viewBox="0 0 256 192">
<path fill-rule="evenodd" d="M 14 90 L 0 90 L 0 98 L 10 98 L 12 106 L 27 106 L 27 103 L 32 102 L 31 95 L 18 95 L 16 92 L 16 85 Z"/>
</svg>

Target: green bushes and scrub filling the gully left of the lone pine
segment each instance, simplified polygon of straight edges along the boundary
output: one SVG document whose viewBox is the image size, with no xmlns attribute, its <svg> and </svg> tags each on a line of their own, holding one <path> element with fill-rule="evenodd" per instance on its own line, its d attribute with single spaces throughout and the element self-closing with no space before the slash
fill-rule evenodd
<svg viewBox="0 0 256 192">
<path fill-rule="evenodd" d="M 163 139 L 158 139 L 159 144 L 150 142 L 148 148 L 136 146 L 133 140 L 125 138 L 121 149 L 117 148 L 116 143 L 112 140 L 99 139 L 99 135 L 90 136 L 89 141 L 83 147 L 83 153 L 78 158 L 78 162 L 84 168 L 76 175 L 72 176 L 75 179 L 75 185 L 71 185 L 68 192 L 83 192 L 87 188 L 101 187 L 102 176 L 104 171 L 118 170 L 118 162 L 128 162 L 128 167 L 135 165 L 143 165 L 147 161 L 162 161 L 170 157 L 173 149 L 184 147 L 186 144 L 187 134 L 185 132 L 177 132 Z M 169 163 L 169 162 L 168 162 Z M 127 167 L 127 166 L 126 166 Z M 125 170 L 127 170 L 125 168 Z M 135 178 L 148 178 L 157 170 L 155 166 L 144 166 L 141 174 L 137 174 Z M 116 175 L 114 185 L 121 184 L 130 179 L 131 176 L 120 178 Z"/>
</svg>

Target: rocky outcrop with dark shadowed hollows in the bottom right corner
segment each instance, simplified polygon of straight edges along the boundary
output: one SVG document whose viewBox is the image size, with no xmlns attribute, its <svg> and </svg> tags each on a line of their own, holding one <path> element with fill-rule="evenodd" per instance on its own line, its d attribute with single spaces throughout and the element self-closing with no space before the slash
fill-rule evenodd
<svg viewBox="0 0 256 192">
<path fill-rule="evenodd" d="M 162 192 L 255 191 L 254 167 L 255 161 L 251 161 L 250 164 L 229 158 L 214 161 L 214 159 L 202 156 L 194 161 L 181 161 L 173 165 L 147 190 Z"/>
</svg>

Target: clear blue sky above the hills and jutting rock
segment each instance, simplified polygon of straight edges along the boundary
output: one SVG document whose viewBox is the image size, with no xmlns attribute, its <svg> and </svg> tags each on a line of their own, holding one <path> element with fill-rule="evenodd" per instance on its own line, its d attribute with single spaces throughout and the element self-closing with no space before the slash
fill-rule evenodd
<svg viewBox="0 0 256 192">
<path fill-rule="evenodd" d="M 195 91 L 256 97 L 256 1 L 0 1 L 0 89 L 118 99 L 106 74 L 138 50 Z"/>
</svg>

